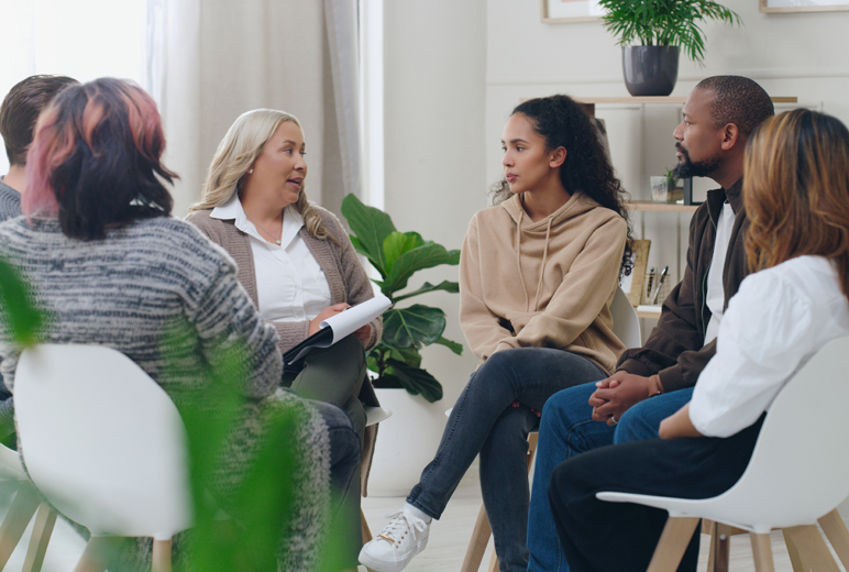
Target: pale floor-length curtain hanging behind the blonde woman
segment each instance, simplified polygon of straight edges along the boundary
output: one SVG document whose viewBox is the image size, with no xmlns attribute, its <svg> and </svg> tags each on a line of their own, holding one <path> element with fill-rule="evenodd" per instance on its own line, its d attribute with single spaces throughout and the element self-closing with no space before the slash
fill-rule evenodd
<svg viewBox="0 0 849 572">
<path fill-rule="evenodd" d="M 311 200 L 339 213 L 345 194 L 361 194 L 353 0 L 147 1 L 147 37 L 162 38 L 161 51 L 148 50 L 148 77 L 166 165 L 181 177 L 175 215 L 197 200 L 233 120 L 256 108 L 300 120 Z"/>
</svg>

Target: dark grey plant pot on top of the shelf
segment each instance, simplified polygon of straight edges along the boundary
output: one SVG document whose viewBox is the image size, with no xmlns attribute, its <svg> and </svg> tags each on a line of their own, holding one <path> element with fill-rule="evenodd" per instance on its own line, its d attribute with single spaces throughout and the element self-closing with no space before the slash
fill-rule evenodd
<svg viewBox="0 0 849 572">
<path fill-rule="evenodd" d="M 622 47 L 622 73 L 630 95 L 669 96 L 679 78 L 679 47 Z"/>
</svg>

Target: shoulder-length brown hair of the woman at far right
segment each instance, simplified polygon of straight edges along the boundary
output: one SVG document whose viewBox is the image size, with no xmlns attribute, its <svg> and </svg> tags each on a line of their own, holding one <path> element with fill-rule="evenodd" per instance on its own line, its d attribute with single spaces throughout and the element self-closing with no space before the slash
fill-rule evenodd
<svg viewBox="0 0 849 572">
<path fill-rule="evenodd" d="M 849 298 L 849 130 L 796 109 L 764 121 L 746 147 L 743 200 L 753 272 L 796 256 L 834 262 Z"/>
</svg>

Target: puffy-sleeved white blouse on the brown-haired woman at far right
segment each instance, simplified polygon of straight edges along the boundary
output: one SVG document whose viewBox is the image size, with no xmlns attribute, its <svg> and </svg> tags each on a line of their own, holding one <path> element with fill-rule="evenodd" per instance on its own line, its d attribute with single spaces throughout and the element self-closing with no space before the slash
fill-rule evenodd
<svg viewBox="0 0 849 572">
<path fill-rule="evenodd" d="M 698 376 L 691 421 L 708 437 L 741 431 L 819 349 L 844 336 L 849 302 L 828 260 L 800 256 L 747 276 L 723 317 L 716 355 Z"/>
</svg>

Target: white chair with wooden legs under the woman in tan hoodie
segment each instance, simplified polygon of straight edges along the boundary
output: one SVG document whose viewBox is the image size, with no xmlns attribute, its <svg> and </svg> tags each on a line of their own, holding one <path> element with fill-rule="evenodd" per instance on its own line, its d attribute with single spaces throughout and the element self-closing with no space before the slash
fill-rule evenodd
<svg viewBox="0 0 849 572">
<path fill-rule="evenodd" d="M 642 345 L 640 319 L 637 317 L 637 310 L 633 309 L 633 306 L 631 306 L 631 302 L 628 300 L 628 296 L 626 296 L 619 287 L 616 288 L 614 299 L 610 302 L 610 315 L 614 318 L 614 333 L 626 348 L 639 348 Z M 451 415 L 451 409 L 445 411 L 445 415 Z M 539 433 L 536 431 L 528 436 L 528 476 L 530 476 L 533 455 L 537 452 L 538 437 Z M 481 505 L 481 510 L 477 513 L 477 520 L 472 530 L 472 538 L 468 541 L 468 548 L 466 548 L 466 556 L 463 559 L 463 565 L 460 568 L 460 572 L 477 572 L 477 569 L 481 568 L 484 552 L 486 551 L 486 544 L 489 542 L 489 537 L 492 535 L 493 529 L 489 527 L 489 519 L 486 517 L 486 508 Z M 488 570 L 489 572 L 496 572 L 498 570 L 498 557 L 496 556 L 495 550 L 493 550 L 493 558 L 489 560 Z"/>
</svg>

